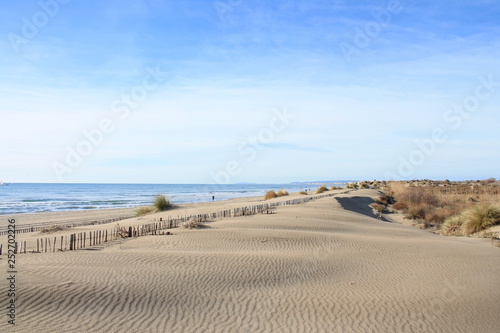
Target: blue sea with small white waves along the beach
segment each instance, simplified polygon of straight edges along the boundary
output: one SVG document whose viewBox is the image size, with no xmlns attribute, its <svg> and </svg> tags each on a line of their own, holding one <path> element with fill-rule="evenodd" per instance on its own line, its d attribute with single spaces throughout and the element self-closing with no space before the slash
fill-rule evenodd
<svg viewBox="0 0 500 333">
<path fill-rule="evenodd" d="M 307 184 L 6 184 L 0 186 L 0 215 L 126 208 L 149 205 L 157 194 L 174 204 L 260 196 L 268 190 L 289 192 Z"/>
</svg>

